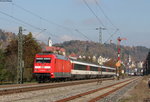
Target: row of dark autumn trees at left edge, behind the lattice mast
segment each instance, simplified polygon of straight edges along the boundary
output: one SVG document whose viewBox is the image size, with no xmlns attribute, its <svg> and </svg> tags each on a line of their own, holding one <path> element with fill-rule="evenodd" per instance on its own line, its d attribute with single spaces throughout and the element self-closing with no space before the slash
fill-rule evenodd
<svg viewBox="0 0 150 102">
<path fill-rule="evenodd" d="M 34 56 L 42 51 L 40 44 L 30 32 L 23 35 L 24 81 L 32 81 Z M 6 49 L 0 49 L 0 82 L 16 83 L 17 78 L 18 40 L 12 39 Z"/>
</svg>

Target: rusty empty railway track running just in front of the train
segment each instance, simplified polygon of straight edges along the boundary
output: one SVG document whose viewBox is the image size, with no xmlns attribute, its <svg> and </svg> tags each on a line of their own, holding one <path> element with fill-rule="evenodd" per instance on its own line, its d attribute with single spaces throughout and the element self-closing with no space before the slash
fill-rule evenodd
<svg viewBox="0 0 150 102">
<path fill-rule="evenodd" d="M 113 78 L 104 78 L 102 80 L 103 81 L 113 80 Z M 36 90 L 43 90 L 43 89 L 50 89 L 50 88 L 58 88 L 58 87 L 93 83 L 97 81 L 98 79 L 91 79 L 91 80 L 80 80 L 80 81 L 49 83 L 49 84 L 29 84 L 29 85 L 12 85 L 12 86 L 10 85 L 6 87 L 3 86 L 3 87 L 0 87 L 0 96 L 7 95 L 7 94 L 28 92 L 28 91 L 36 91 Z"/>
</svg>

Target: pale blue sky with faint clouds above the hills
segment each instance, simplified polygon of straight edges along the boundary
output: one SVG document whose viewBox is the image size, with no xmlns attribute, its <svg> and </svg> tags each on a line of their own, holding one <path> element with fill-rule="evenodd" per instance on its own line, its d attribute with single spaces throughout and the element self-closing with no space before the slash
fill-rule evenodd
<svg viewBox="0 0 150 102">
<path fill-rule="evenodd" d="M 4 0 L 2 0 L 4 1 Z M 39 41 L 99 41 L 150 48 L 150 0 L 0 0 L 0 29 L 24 34 Z M 7 0 L 6 0 L 7 1 Z M 96 4 L 97 1 L 97 4 Z M 88 6 L 87 6 L 87 4 Z M 92 11 L 91 11 L 92 10 Z M 119 30 L 117 30 L 119 29 Z"/>
</svg>

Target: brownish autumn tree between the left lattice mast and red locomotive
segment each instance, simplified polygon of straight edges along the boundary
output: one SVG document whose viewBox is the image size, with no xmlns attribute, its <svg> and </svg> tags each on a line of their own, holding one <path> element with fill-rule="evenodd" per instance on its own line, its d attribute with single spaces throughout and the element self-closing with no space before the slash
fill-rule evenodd
<svg viewBox="0 0 150 102">
<path fill-rule="evenodd" d="M 24 78 L 27 81 L 32 79 L 32 69 L 34 63 L 35 54 L 41 52 L 42 49 L 37 43 L 37 41 L 33 38 L 32 33 L 30 32 L 24 38 L 23 44 L 23 59 L 24 59 Z"/>
</svg>

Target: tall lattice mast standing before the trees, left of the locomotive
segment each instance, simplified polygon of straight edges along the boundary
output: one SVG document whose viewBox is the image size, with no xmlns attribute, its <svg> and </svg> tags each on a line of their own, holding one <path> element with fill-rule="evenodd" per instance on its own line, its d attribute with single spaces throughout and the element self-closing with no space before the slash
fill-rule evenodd
<svg viewBox="0 0 150 102">
<path fill-rule="evenodd" d="M 17 83 L 23 84 L 23 36 L 22 36 L 22 27 L 19 27 L 18 33 L 18 66 L 17 66 Z"/>
</svg>

